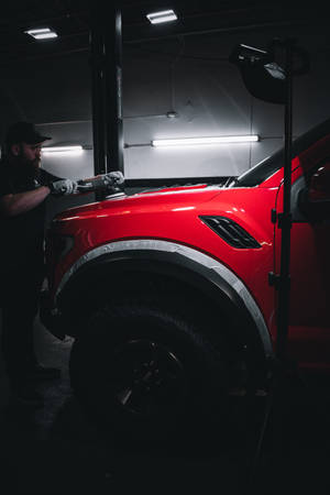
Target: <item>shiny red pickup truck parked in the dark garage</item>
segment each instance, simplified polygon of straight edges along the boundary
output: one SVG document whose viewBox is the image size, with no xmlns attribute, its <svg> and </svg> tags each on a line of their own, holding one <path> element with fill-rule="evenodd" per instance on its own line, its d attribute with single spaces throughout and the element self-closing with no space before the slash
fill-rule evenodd
<svg viewBox="0 0 330 495">
<path fill-rule="evenodd" d="M 330 364 L 330 120 L 294 142 L 290 358 Z M 166 429 L 257 388 L 274 359 L 284 152 L 226 185 L 123 193 L 57 215 L 44 324 L 103 421 Z"/>
</svg>

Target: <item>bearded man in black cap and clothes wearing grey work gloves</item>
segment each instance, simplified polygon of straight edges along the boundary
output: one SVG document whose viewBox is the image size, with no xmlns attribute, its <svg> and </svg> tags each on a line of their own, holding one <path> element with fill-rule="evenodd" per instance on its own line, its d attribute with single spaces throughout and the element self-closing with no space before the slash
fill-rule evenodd
<svg viewBox="0 0 330 495">
<path fill-rule="evenodd" d="M 33 323 L 44 279 L 45 202 L 50 195 L 78 189 L 78 183 L 41 168 L 42 144 L 50 139 L 30 122 L 11 125 L 0 164 L 2 351 L 12 391 L 34 404 L 42 402 L 37 381 L 61 376 L 59 370 L 40 364 L 34 352 Z M 107 184 L 112 175 L 123 182 L 122 174 L 113 172 L 106 175 Z"/>
</svg>

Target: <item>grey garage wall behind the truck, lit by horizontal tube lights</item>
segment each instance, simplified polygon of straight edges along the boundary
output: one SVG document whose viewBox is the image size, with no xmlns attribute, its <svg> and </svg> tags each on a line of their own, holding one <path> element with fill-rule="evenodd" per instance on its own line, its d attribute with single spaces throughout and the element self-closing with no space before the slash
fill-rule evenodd
<svg viewBox="0 0 330 495">
<path fill-rule="evenodd" d="M 283 145 L 280 106 L 251 97 L 228 56 L 238 43 L 265 47 L 294 36 L 310 54 L 309 75 L 295 79 L 294 134 L 329 117 L 329 35 L 316 29 L 278 28 L 212 33 L 123 45 L 124 173 L 129 179 L 239 175 Z M 79 156 L 44 158 L 69 178 L 94 173 L 89 53 L 11 64 L 0 82 L 3 131 L 32 120 L 50 144 L 84 144 Z M 169 111 L 176 118 L 168 118 Z M 258 143 L 155 150 L 155 138 L 257 133 Z M 85 199 L 84 199 L 85 200 Z"/>
</svg>

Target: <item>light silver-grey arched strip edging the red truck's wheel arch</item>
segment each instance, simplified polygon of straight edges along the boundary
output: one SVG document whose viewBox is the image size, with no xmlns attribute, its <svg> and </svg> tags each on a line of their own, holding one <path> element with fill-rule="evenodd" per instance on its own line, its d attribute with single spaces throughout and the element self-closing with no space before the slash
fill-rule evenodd
<svg viewBox="0 0 330 495">
<path fill-rule="evenodd" d="M 90 267 L 90 265 L 96 266 L 99 263 L 116 263 L 119 260 L 121 263 L 124 263 L 125 260 L 129 262 L 139 262 L 139 260 L 166 262 L 168 266 L 175 265 L 186 268 L 186 273 L 198 274 L 199 278 L 201 277 L 211 286 L 220 288 L 221 294 L 224 294 L 234 307 L 240 309 L 246 321 L 252 320 L 264 356 L 266 359 L 273 358 L 274 351 L 267 326 L 257 304 L 243 282 L 220 261 L 190 246 L 170 241 L 134 239 L 114 241 L 92 249 L 79 257 L 64 274 L 56 290 L 55 306 L 69 282 L 76 278 L 84 268 Z"/>
</svg>

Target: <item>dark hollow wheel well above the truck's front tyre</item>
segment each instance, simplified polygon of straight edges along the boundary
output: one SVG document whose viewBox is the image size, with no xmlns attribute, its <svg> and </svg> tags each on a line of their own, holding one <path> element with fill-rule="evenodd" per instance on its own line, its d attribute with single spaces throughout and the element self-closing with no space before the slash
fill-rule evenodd
<svg viewBox="0 0 330 495">
<path fill-rule="evenodd" d="M 106 304 L 136 298 L 175 307 L 178 314 L 202 328 L 215 345 L 227 342 L 235 348 L 249 345 L 258 361 L 264 348 L 248 311 L 238 308 L 228 294 L 200 274 L 168 263 L 144 260 L 97 263 L 80 270 L 58 298 L 68 320 L 69 334 L 84 331 L 86 320 Z"/>
</svg>

